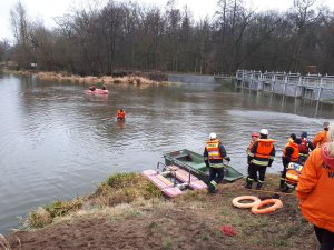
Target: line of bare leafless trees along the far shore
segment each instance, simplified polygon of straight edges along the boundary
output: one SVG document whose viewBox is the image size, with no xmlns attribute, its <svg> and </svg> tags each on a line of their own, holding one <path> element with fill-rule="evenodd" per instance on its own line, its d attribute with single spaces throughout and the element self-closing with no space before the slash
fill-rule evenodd
<svg viewBox="0 0 334 250">
<path fill-rule="evenodd" d="M 47 29 L 18 2 L 10 12 L 14 44 L 0 42 L 0 61 L 43 71 L 111 74 L 117 70 L 234 73 L 237 69 L 334 74 L 334 13 L 316 0 L 292 0 L 285 12 L 258 12 L 243 0 L 219 0 L 196 20 L 169 0 L 72 10 Z"/>
</svg>

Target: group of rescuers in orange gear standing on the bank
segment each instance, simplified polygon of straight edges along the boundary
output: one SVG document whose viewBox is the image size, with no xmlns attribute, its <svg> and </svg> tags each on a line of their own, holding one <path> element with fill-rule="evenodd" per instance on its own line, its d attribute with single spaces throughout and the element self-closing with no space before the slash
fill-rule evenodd
<svg viewBox="0 0 334 250">
<path fill-rule="evenodd" d="M 248 176 L 246 189 L 252 189 L 253 182 L 259 190 L 265 180 L 267 167 L 275 157 L 275 140 L 268 138 L 268 130 L 262 129 L 259 134 L 252 133 L 247 152 Z M 216 187 L 224 178 L 223 159 L 230 161 L 216 133 L 209 134 L 204 150 L 204 160 L 209 169 L 208 191 L 215 193 Z M 279 180 L 279 191 L 287 192 L 287 171 L 297 166 L 298 173 L 296 196 L 303 216 L 314 224 L 314 231 L 321 243 L 321 250 L 334 249 L 334 126 L 323 123 L 323 130 L 311 142 L 307 133 L 301 138 L 292 133 L 283 149 L 283 171 Z M 298 169 L 299 168 L 299 169 Z M 258 172 L 258 177 L 257 177 Z M 289 182 L 293 183 L 293 182 Z"/>
</svg>

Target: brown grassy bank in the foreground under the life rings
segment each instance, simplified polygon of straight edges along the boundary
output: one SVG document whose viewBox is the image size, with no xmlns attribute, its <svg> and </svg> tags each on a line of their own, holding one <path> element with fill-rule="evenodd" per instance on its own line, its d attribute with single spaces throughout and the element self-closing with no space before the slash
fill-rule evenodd
<svg viewBox="0 0 334 250">
<path fill-rule="evenodd" d="M 315 249 L 294 193 L 279 193 L 284 207 L 268 214 L 232 206 L 237 196 L 274 194 L 278 179 L 268 176 L 263 191 L 246 190 L 238 180 L 220 184 L 215 194 L 186 191 L 168 200 L 141 176 L 119 173 L 90 196 L 37 209 L 27 231 L 6 241 L 11 249 Z"/>
</svg>

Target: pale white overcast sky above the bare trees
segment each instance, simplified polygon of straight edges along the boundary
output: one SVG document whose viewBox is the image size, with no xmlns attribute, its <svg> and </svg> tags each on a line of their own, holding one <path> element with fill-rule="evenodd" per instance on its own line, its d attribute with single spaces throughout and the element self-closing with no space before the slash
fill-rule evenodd
<svg viewBox="0 0 334 250">
<path fill-rule="evenodd" d="M 19 0 L 0 0 L 0 40 L 4 38 L 12 39 L 10 30 L 10 10 L 17 4 Z M 106 0 L 99 0 L 106 1 Z M 175 0 L 177 7 L 183 8 L 187 6 L 193 11 L 195 18 L 204 18 L 213 16 L 218 0 Z M 286 10 L 293 6 L 293 0 L 244 0 L 247 6 L 259 11 L 266 9 Z M 328 6 L 334 10 L 334 0 L 317 0 L 320 3 Z M 43 20 L 47 27 L 55 24 L 55 17 L 62 16 L 68 12 L 71 7 L 88 2 L 96 4 L 95 0 L 21 0 L 30 19 L 39 18 Z M 165 7 L 167 0 L 137 0 L 139 3 L 155 4 Z"/>
</svg>

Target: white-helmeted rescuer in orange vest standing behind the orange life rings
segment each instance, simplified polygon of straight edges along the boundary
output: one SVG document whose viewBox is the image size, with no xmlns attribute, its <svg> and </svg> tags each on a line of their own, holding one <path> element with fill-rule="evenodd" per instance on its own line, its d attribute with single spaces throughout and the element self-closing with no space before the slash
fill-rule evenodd
<svg viewBox="0 0 334 250">
<path fill-rule="evenodd" d="M 257 178 L 256 189 L 264 183 L 266 169 L 271 167 L 275 157 L 274 140 L 268 139 L 268 130 L 259 130 L 259 139 L 254 142 L 248 153 L 249 174 L 246 179 L 246 188 L 252 189 L 253 181 Z"/>
</svg>

